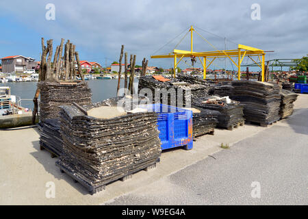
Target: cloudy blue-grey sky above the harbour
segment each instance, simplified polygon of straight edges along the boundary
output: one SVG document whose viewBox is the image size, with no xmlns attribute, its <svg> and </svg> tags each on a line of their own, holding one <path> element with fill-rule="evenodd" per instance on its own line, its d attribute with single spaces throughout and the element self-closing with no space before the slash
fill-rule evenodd
<svg viewBox="0 0 308 219">
<path fill-rule="evenodd" d="M 308 1 L 220 1 L 220 0 L 129 0 L 129 1 L 0 1 L 0 57 L 25 55 L 39 60 L 40 38 L 70 39 L 81 60 L 105 66 L 118 60 L 121 44 L 125 51 L 143 57 L 149 66 L 170 68 L 172 60 L 150 59 L 170 53 L 185 36 L 190 25 L 217 49 L 237 48 L 237 44 L 274 51 L 273 58 L 298 58 L 308 53 Z M 47 20 L 47 4 L 55 5 L 55 20 Z M 260 5 L 261 20 L 253 20 L 251 5 Z M 194 51 L 214 50 L 194 34 Z M 177 49 L 190 49 L 186 36 Z M 168 43 L 169 42 L 169 43 Z M 246 64 L 248 60 L 244 59 Z M 190 64 L 190 62 L 187 62 Z M 183 62 L 180 67 L 187 68 Z M 212 68 L 223 68 L 224 60 Z M 235 66 L 227 61 L 227 68 Z"/>
</svg>

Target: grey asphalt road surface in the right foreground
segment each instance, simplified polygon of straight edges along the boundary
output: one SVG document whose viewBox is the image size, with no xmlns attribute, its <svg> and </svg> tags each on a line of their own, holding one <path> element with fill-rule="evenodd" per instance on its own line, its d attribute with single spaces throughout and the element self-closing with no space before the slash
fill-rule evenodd
<svg viewBox="0 0 308 219">
<path fill-rule="evenodd" d="M 308 205 L 307 108 L 213 156 L 105 204 Z"/>
</svg>

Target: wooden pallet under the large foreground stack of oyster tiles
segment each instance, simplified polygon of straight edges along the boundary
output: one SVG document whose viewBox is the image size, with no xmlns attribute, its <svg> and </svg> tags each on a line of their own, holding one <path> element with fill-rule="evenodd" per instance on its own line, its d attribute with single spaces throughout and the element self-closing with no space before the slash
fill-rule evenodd
<svg viewBox="0 0 308 219">
<path fill-rule="evenodd" d="M 107 181 L 107 182 L 105 182 L 101 185 L 97 185 L 96 187 L 90 185 L 88 182 L 86 182 L 83 179 L 80 179 L 79 177 L 74 175 L 71 170 L 62 166 L 60 164 L 60 162 L 55 162 L 55 166 L 59 167 L 60 171 L 62 173 L 66 173 L 67 175 L 69 175 L 73 179 L 74 183 L 80 183 L 81 185 L 83 185 L 86 188 L 86 190 L 88 190 L 88 192 L 91 195 L 93 195 L 97 192 L 101 192 L 101 191 L 105 190 L 107 184 L 110 184 L 110 183 L 112 183 L 114 181 L 118 181 L 118 180 L 127 181 L 128 179 L 131 179 L 133 177 L 133 174 L 135 174 L 136 172 L 139 172 L 140 170 L 149 171 L 151 169 L 156 168 L 156 164 L 159 163 L 159 161 L 160 161 L 160 159 L 158 158 L 157 161 L 154 164 L 149 164 L 149 166 L 139 168 L 137 170 L 134 170 L 133 172 L 129 172 L 127 175 L 125 175 L 123 177 L 119 177 L 118 179 L 112 179 L 111 181 Z"/>
</svg>

